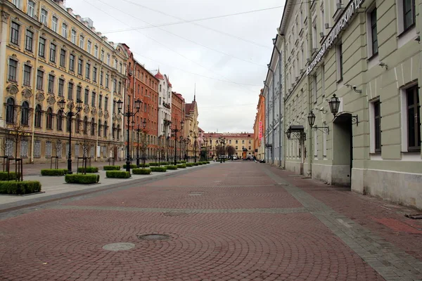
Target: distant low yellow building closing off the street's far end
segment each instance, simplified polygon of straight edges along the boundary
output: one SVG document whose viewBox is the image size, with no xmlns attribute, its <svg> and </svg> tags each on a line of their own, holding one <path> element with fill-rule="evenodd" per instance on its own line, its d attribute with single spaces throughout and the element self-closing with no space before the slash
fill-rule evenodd
<svg viewBox="0 0 422 281">
<path fill-rule="evenodd" d="M 228 146 L 234 148 L 233 155 L 239 158 L 245 158 L 254 155 L 254 133 L 204 133 L 208 140 L 210 156 L 219 155 L 220 139 L 224 138 L 226 150 L 223 155 L 229 156 Z M 217 148 L 216 148 L 217 147 Z"/>
</svg>

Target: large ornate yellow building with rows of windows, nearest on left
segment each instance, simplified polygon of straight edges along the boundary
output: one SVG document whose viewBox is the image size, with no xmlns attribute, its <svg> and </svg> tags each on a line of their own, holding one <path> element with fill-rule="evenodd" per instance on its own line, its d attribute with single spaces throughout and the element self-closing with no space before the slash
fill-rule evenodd
<svg viewBox="0 0 422 281">
<path fill-rule="evenodd" d="M 0 2 L 1 156 L 24 162 L 68 157 L 122 157 L 127 53 L 96 32 L 89 18 L 58 0 Z M 65 100 L 65 109 L 58 102 Z M 14 138 L 19 135 L 20 138 Z"/>
</svg>

